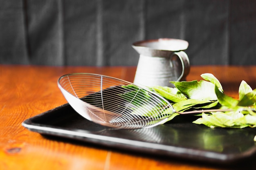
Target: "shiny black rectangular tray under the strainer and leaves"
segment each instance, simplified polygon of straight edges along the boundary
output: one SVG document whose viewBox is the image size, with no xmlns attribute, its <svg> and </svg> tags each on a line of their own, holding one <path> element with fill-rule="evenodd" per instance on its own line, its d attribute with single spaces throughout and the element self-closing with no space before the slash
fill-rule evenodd
<svg viewBox="0 0 256 170">
<path fill-rule="evenodd" d="M 256 128 L 208 128 L 191 123 L 197 117 L 180 115 L 153 128 L 115 130 L 81 117 L 69 104 L 25 120 L 22 125 L 53 135 L 121 150 L 217 163 L 252 158 Z"/>
</svg>

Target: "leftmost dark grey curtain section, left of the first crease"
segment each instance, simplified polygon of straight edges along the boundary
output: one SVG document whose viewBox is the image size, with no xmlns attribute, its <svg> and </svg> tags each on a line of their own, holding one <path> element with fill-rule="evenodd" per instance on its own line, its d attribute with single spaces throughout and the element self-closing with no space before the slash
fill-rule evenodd
<svg viewBox="0 0 256 170">
<path fill-rule="evenodd" d="M 0 0 L 0 63 L 28 64 L 22 1 Z"/>
</svg>

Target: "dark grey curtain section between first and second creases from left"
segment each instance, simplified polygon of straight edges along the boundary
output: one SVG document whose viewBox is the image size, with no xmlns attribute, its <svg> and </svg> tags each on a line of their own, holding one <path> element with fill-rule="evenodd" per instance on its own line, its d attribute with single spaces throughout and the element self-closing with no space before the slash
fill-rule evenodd
<svg viewBox="0 0 256 170">
<path fill-rule="evenodd" d="M 62 0 L 25 0 L 29 64 L 63 65 Z"/>
</svg>

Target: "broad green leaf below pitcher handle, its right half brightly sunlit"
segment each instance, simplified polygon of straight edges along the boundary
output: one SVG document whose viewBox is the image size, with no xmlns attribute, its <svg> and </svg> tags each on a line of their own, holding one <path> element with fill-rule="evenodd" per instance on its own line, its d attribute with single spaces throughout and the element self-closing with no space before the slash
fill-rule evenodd
<svg viewBox="0 0 256 170">
<path fill-rule="evenodd" d="M 190 99 L 217 100 L 215 85 L 205 80 L 192 82 L 171 82 L 175 87 Z"/>
</svg>

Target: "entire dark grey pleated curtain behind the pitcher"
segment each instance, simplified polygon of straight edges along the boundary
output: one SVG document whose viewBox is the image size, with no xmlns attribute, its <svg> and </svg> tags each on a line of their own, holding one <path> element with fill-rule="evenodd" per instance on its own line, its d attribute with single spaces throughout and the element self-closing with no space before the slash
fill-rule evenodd
<svg viewBox="0 0 256 170">
<path fill-rule="evenodd" d="M 256 64 L 256 0 L 0 0 L 0 64 L 136 66 L 132 42 L 157 38 L 191 65 Z"/>
</svg>

